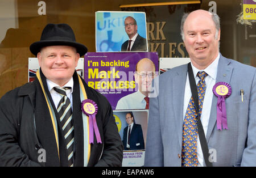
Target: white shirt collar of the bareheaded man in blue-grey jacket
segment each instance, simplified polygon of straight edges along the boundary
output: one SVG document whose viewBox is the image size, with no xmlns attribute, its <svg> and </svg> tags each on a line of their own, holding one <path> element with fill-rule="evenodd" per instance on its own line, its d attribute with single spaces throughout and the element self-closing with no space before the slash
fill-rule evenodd
<svg viewBox="0 0 256 178">
<path fill-rule="evenodd" d="M 193 66 L 193 63 L 191 62 L 194 77 L 196 78 L 196 75 L 199 71 L 205 71 L 205 73 L 207 73 L 210 77 L 212 77 L 214 80 L 216 80 L 217 69 L 218 69 L 218 60 L 220 60 L 220 53 L 218 53 L 218 56 L 216 57 L 216 59 L 204 70 L 197 69 L 195 66 Z"/>
</svg>

